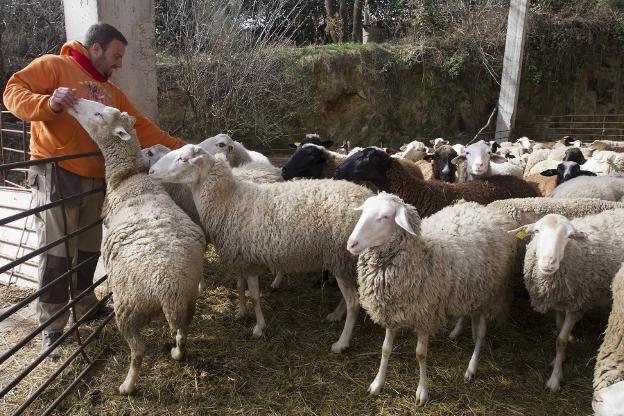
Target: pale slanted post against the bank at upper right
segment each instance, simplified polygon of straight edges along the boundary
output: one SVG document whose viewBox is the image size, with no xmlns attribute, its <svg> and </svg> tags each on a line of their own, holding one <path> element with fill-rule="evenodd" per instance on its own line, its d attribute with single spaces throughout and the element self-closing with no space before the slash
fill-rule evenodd
<svg viewBox="0 0 624 416">
<path fill-rule="evenodd" d="M 494 136 L 498 142 L 510 137 L 516 118 L 528 11 L 529 0 L 511 0 L 509 17 L 507 18 L 503 76 L 498 97 L 496 134 Z"/>
</svg>

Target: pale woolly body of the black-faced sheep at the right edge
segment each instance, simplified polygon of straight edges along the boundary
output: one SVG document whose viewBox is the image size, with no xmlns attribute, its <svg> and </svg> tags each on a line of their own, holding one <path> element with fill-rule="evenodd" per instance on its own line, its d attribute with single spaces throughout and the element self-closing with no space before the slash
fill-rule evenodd
<svg viewBox="0 0 624 416">
<path fill-rule="evenodd" d="M 555 188 L 551 198 L 598 198 L 624 201 L 624 178 L 614 176 L 579 176 Z"/>
</svg>

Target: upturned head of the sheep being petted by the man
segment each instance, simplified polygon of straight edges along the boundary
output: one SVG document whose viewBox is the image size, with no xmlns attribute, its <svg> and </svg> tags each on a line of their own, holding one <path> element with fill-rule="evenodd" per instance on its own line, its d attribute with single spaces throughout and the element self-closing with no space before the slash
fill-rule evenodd
<svg viewBox="0 0 624 416">
<path fill-rule="evenodd" d="M 81 98 L 68 112 L 96 142 L 109 138 L 124 141 L 132 138 L 130 130 L 134 126 L 134 117 L 116 108 Z M 98 145 L 101 144 L 98 142 Z"/>
</svg>

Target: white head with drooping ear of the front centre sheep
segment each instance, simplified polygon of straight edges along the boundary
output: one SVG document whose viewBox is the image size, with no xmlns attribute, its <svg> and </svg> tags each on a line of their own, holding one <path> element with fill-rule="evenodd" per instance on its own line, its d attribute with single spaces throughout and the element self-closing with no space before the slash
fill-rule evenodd
<svg viewBox="0 0 624 416">
<path fill-rule="evenodd" d="M 415 235 L 409 223 L 407 207 L 396 196 L 381 192 L 368 198 L 355 210 L 362 211 L 362 214 L 347 241 L 347 250 L 353 255 L 387 243 L 398 227 Z"/>
</svg>

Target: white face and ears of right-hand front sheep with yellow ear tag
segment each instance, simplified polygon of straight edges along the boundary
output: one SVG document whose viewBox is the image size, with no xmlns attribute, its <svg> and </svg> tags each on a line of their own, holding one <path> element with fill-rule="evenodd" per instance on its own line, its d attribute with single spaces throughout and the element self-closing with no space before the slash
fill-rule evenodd
<svg viewBox="0 0 624 416">
<path fill-rule="evenodd" d="M 548 214 L 535 224 L 524 225 L 512 232 L 524 231 L 534 234 L 535 257 L 540 273 L 550 275 L 559 270 L 565 254 L 565 248 L 571 239 L 586 239 L 583 231 L 574 228 L 574 225 L 563 215 Z"/>
</svg>

